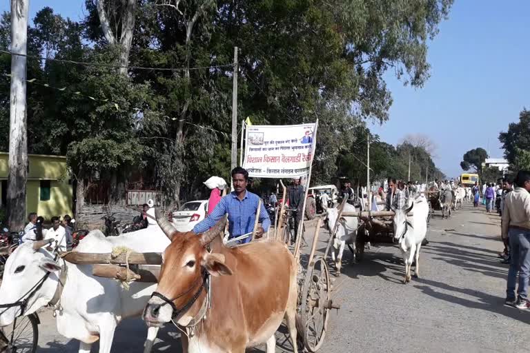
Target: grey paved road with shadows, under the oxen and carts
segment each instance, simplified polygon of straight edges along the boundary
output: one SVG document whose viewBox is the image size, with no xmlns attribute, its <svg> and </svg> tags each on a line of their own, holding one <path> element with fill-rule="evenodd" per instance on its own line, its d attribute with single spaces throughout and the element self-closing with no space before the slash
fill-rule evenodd
<svg viewBox="0 0 530 353">
<path fill-rule="evenodd" d="M 496 258 L 499 224 L 498 216 L 469 206 L 450 220 L 434 217 L 431 243 L 420 257 L 422 276 L 407 285 L 395 246 L 373 245 L 355 265 L 345 252 L 334 294 L 342 308 L 331 317 L 321 352 L 528 352 L 530 312 L 503 305 L 507 265 Z M 39 352 L 77 352 L 77 342 L 57 334 L 48 312 L 42 319 Z M 112 352 L 141 352 L 145 334 L 141 321 L 125 321 Z M 167 327 L 155 352 L 180 352 L 177 340 L 175 328 Z"/>
</svg>

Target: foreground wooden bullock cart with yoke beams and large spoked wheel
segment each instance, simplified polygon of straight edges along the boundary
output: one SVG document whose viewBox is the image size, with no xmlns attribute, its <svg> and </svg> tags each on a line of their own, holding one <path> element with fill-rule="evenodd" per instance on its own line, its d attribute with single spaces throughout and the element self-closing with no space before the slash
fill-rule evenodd
<svg viewBox="0 0 530 353">
<path fill-rule="evenodd" d="M 285 199 L 285 198 L 284 198 Z M 282 205 L 284 209 L 284 205 Z M 258 208 L 259 210 L 259 208 Z M 308 352 L 317 352 L 324 343 L 331 309 L 338 310 L 340 305 L 331 299 L 332 283 L 325 256 L 315 256 L 317 239 L 322 219 L 317 221 L 315 236 L 308 254 L 306 268 L 300 261 L 300 237 L 291 250 L 299 265 L 298 276 L 298 314 L 297 341 Z M 278 229 L 277 229 L 278 230 Z M 276 237 L 278 232 L 273 235 Z M 91 264 L 95 276 L 117 279 L 128 283 L 139 281 L 156 283 L 160 274 L 161 254 L 155 252 L 119 251 L 116 253 L 63 252 L 65 261 L 77 264 Z"/>
</svg>

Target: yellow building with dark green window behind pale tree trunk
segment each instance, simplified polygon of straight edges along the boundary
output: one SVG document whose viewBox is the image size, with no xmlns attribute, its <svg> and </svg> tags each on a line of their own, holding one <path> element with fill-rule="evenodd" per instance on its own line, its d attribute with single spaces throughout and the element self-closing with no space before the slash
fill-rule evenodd
<svg viewBox="0 0 530 353">
<path fill-rule="evenodd" d="M 1 206 L 6 205 L 8 188 L 8 157 L 0 152 Z M 66 157 L 28 154 L 26 213 L 37 212 L 49 220 L 52 216 L 72 214 L 72 181 Z"/>
</svg>

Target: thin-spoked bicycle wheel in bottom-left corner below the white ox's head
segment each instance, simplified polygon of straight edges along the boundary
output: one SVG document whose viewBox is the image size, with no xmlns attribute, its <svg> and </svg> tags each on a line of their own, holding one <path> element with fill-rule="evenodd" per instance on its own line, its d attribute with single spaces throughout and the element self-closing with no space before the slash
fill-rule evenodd
<svg viewBox="0 0 530 353">
<path fill-rule="evenodd" d="M 1 353 L 35 353 L 39 341 L 39 319 L 35 315 L 17 317 L 11 325 L 1 327 Z"/>
</svg>

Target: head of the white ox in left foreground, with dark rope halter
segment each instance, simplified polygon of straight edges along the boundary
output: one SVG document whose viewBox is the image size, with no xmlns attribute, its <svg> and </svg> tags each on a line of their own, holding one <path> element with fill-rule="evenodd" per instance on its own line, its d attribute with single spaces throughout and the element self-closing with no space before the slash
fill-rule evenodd
<svg viewBox="0 0 530 353">
<path fill-rule="evenodd" d="M 41 249 L 48 244 L 48 241 L 24 243 L 8 257 L 0 286 L 0 304 L 28 300 L 23 312 L 21 305 L 0 308 L 0 326 L 10 325 L 17 316 L 31 314 L 52 300 L 61 266 L 53 261 L 50 252 Z M 45 279 L 48 272 L 51 273 Z"/>
</svg>

